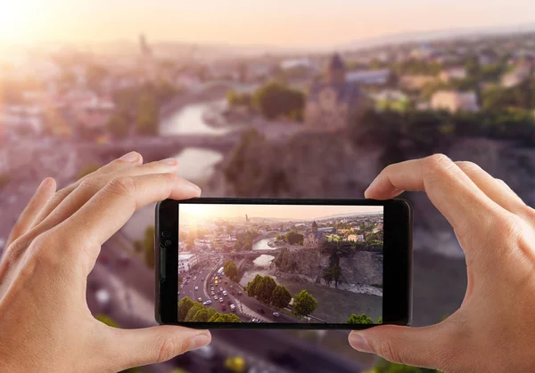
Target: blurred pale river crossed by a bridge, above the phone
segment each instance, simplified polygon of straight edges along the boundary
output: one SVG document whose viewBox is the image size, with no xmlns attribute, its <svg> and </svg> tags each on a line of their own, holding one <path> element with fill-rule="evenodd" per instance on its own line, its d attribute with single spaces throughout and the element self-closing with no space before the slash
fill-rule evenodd
<svg viewBox="0 0 535 373">
<path fill-rule="evenodd" d="M 214 106 L 225 104 L 225 100 L 195 103 L 177 110 L 160 124 L 160 134 L 226 134 L 227 128 L 208 126 L 202 118 L 205 111 Z M 177 158 L 180 164 L 179 174 L 189 180 L 206 179 L 213 173 L 213 167 L 223 159 L 218 151 L 186 148 L 179 152 Z"/>
</svg>

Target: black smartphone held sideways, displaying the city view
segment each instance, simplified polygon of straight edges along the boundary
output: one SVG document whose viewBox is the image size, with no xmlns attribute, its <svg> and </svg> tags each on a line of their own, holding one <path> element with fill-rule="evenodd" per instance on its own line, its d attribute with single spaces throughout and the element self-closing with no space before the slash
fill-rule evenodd
<svg viewBox="0 0 535 373">
<path fill-rule="evenodd" d="M 403 199 L 166 199 L 156 207 L 156 320 L 409 325 L 412 227 Z"/>
</svg>

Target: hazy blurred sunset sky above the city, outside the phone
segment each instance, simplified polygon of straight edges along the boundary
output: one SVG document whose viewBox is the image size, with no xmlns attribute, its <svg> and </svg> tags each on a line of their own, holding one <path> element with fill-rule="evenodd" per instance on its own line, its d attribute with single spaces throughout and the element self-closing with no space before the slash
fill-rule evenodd
<svg viewBox="0 0 535 373">
<path fill-rule="evenodd" d="M 0 0 L 0 41 L 314 47 L 535 22 L 533 0 Z"/>
</svg>

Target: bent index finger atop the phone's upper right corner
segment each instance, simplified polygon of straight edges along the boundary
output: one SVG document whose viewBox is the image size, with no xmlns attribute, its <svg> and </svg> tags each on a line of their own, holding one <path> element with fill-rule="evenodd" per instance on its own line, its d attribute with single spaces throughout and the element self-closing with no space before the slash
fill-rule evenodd
<svg viewBox="0 0 535 373">
<path fill-rule="evenodd" d="M 458 236 L 493 223 L 495 202 L 448 157 L 433 155 L 387 166 L 365 192 L 368 199 L 391 199 L 403 191 L 425 191 Z"/>
</svg>

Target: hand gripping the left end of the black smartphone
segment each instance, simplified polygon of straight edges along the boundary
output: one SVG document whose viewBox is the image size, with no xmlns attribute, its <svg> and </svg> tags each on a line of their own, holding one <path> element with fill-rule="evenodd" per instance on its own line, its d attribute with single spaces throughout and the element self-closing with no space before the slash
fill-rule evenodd
<svg viewBox="0 0 535 373">
<path fill-rule="evenodd" d="M 101 245 L 137 208 L 200 195 L 176 172 L 175 159 L 143 165 L 132 152 L 61 191 L 41 183 L 0 262 L 0 371 L 119 371 L 210 343 L 206 330 L 111 328 L 86 303 Z"/>
</svg>

